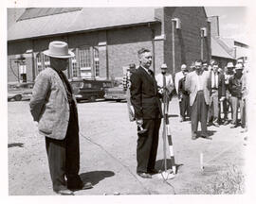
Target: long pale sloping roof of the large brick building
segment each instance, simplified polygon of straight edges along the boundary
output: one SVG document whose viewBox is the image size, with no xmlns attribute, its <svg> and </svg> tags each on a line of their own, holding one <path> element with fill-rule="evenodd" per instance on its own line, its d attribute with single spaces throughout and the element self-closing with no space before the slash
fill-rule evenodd
<svg viewBox="0 0 256 204">
<path fill-rule="evenodd" d="M 149 22 L 157 22 L 155 8 L 27 8 L 9 26 L 8 41 Z"/>
</svg>

